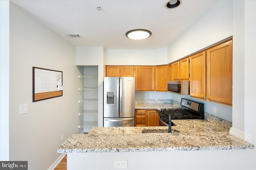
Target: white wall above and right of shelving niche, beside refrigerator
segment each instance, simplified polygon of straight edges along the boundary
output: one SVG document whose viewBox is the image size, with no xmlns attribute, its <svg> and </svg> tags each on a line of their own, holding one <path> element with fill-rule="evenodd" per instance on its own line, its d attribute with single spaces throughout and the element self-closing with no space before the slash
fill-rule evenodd
<svg viewBox="0 0 256 170">
<path fill-rule="evenodd" d="M 98 66 L 98 126 L 103 127 L 104 48 L 76 47 L 76 65 Z"/>
</svg>

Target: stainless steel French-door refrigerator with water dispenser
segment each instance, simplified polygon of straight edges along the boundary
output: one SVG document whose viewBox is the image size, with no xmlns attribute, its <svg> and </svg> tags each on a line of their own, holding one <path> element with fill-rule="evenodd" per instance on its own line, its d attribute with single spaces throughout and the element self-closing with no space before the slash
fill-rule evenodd
<svg viewBox="0 0 256 170">
<path fill-rule="evenodd" d="M 134 126 L 134 96 L 134 77 L 104 77 L 103 126 Z"/>
</svg>

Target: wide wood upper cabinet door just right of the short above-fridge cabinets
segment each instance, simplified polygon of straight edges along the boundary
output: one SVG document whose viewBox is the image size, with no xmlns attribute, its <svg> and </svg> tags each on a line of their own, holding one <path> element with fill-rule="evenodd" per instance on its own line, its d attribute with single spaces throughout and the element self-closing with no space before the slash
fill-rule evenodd
<svg viewBox="0 0 256 170">
<path fill-rule="evenodd" d="M 135 66 L 135 90 L 154 91 L 154 66 Z"/>
</svg>

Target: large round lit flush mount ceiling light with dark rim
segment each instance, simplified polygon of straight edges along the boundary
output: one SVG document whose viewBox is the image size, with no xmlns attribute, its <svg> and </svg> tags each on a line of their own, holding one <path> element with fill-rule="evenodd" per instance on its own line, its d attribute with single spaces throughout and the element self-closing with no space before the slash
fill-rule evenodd
<svg viewBox="0 0 256 170">
<path fill-rule="evenodd" d="M 130 39 L 140 40 L 150 37 L 152 33 L 146 29 L 132 29 L 128 31 L 125 35 Z"/>
</svg>

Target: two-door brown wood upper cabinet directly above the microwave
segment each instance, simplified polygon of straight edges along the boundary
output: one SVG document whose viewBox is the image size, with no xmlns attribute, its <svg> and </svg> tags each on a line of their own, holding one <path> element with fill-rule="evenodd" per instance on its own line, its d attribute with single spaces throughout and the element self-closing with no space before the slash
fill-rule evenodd
<svg viewBox="0 0 256 170">
<path fill-rule="evenodd" d="M 173 80 L 189 80 L 189 57 L 173 63 Z"/>
</svg>

